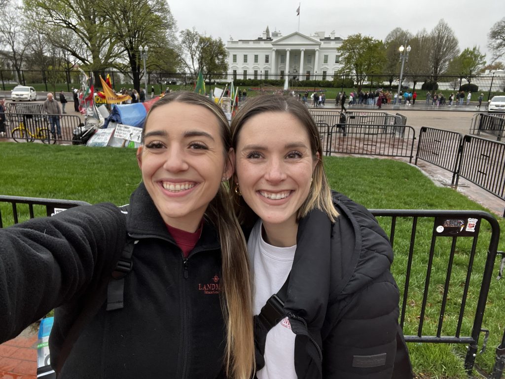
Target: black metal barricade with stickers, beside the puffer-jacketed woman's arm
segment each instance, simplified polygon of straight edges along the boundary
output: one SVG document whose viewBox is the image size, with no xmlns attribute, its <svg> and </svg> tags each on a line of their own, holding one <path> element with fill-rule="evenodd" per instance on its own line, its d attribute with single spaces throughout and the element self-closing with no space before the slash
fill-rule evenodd
<svg viewBox="0 0 505 379">
<path fill-rule="evenodd" d="M 489 333 L 483 328 L 482 321 L 498 249 L 498 222 L 489 213 L 482 211 L 370 211 L 384 229 L 389 231 L 395 262 L 406 273 L 405 276 L 396 277 L 399 287 L 403 288 L 400 325 L 406 341 L 467 344 L 465 368 L 471 373 L 479 336 L 485 333 L 483 351 Z M 481 228 L 488 233 L 487 225 L 481 225 L 482 220 L 489 224 L 491 230 L 489 245 L 486 239 L 484 246 L 482 243 L 478 245 Z M 426 234 L 426 229 L 431 229 L 431 232 Z M 429 246 L 429 251 L 420 251 L 423 241 L 425 246 Z M 395 245 L 395 242 L 398 243 Z M 480 263 L 475 261 L 478 254 L 486 254 L 482 271 L 478 270 Z M 479 261 L 484 259 L 477 260 Z M 443 270 L 443 275 L 436 276 L 440 269 Z M 423 278 L 424 284 L 418 281 L 419 277 Z M 474 309 L 471 302 L 473 289 L 480 289 Z M 469 325 L 464 326 L 464 318 L 470 317 L 473 319 L 471 328 Z M 456 321 L 455 328 L 444 323 L 449 318 Z M 415 333 L 410 334 L 412 331 Z M 504 345 L 505 340 L 502 341 L 501 349 Z M 499 349 L 496 371 L 502 364 L 500 359 L 503 359 L 498 352 Z M 501 373 L 493 376 L 493 379 L 499 379 L 500 376 Z"/>
</svg>

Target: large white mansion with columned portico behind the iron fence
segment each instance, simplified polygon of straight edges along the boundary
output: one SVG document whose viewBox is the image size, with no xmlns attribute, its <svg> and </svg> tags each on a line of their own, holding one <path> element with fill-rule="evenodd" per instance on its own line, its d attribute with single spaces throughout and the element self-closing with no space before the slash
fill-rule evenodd
<svg viewBox="0 0 505 379">
<path fill-rule="evenodd" d="M 325 32 L 304 35 L 294 32 L 283 36 L 280 31 L 270 34 L 269 28 L 257 39 L 239 39 L 226 42 L 228 67 L 234 76 L 243 78 L 269 78 L 269 74 L 285 73 L 300 80 L 318 74 L 322 80 L 330 80 L 340 65 L 337 48 L 343 39 Z M 247 73 L 249 75 L 247 76 Z M 243 75 L 243 76 L 242 76 Z M 321 76 L 320 76 L 321 75 Z M 273 78 L 273 77 L 271 77 Z"/>
</svg>

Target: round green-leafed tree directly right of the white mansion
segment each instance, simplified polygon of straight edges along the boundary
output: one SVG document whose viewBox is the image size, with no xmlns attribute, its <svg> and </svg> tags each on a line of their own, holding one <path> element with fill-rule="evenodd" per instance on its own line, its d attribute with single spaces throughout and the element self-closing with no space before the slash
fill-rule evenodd
<svg viewBox="0 0 505 379">
<path fill-rule="evenodd" d="M 356 76 L 358 91 L 361 91 L 368 75 L 382 72 L 386 62 L 386 51 L 382 41 L 362 36 L 360 33 L 349 35 L 337 50 L 343 62 L 343 67 L 339 71 Z"/>
</svg>

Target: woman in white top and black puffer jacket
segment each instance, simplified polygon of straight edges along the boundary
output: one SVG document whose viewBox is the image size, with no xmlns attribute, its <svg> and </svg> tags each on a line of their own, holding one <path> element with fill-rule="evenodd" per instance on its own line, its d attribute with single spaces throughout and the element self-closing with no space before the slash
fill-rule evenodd
<svg viewBox="0 0 505 379">
<path fill-rule="evenodd" d="M 257 377 L 412 377 L 391 245 L 367 209 L 331 191 L 307 107 L 249 99 L 231 132 L 229 184 L 254 273 Z"/>
</svg>

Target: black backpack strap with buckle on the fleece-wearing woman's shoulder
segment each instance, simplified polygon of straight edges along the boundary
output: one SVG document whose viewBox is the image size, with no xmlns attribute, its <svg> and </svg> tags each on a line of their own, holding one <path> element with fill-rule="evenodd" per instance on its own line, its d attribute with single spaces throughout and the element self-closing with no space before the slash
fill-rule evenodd
<svg viewBox="0 0 505 379">
<path fill-rule="evenodd" d="M 123 248 L 123 253 L 112 272 L 112 278 L 107 287 L 107 310 L 112 311 L 124 307 L 125 276 L 133 268 L 133 248 L 138 241 L 134 241 L 129 236 Z"/>
</svg>

